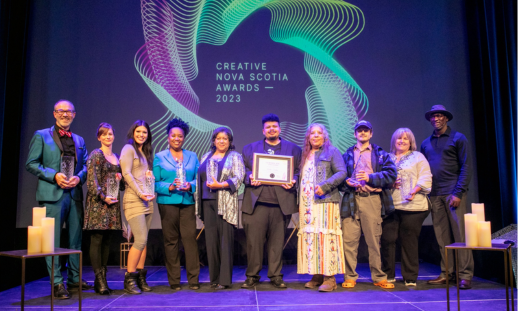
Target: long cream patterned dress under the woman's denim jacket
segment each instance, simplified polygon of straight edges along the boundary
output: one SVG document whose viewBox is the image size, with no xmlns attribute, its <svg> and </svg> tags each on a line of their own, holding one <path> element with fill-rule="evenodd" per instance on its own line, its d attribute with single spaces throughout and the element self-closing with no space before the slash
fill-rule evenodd
<svg viewBox="0 0 518 311">
<path fill-rule="evenodd" d="M 297 273 L 332 276 L 345 272 L 339 204 L 315 203 L 315 162 L 302 169 Z"/>
</svg>

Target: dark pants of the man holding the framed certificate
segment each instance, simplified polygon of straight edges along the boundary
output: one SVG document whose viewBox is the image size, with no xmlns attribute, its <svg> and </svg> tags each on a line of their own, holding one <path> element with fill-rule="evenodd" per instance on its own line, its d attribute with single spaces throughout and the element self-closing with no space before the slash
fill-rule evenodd
<svg viewBox="0 0 518 311">
<path fill-rule="evenodd" d="M 263 268 L 263 249 L 267 242 L 268 277 L 282 277 L 282 249 L 288 222 L 279 205 L 258 202 L 252 214 L 241 215 L 246 234 L 247 277 L 259 277 Z"/>
</svg>

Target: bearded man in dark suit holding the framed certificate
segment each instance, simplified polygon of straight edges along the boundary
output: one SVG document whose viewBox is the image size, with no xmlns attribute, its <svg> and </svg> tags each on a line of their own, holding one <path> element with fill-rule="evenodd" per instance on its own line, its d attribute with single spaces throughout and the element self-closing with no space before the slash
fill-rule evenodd
<svg viewBox="0 0 518 311">
<path fill-rule="evenodd" d="M 279 137 L 281 122 L 277 115 L 265 115 L 262 123 L 265 139 L 246 145 L 242 152 L 246 168 L 246 187 L 241 210 L 246 234 L 248 267 L 246 281 L 241 287 L 252 288 L 259 282 L 264 244 L 267 243 L 268 277 L 275 287 L 287 288 L 281 273 L 282 249 L 290 215 L 298 212 L 296 182 L 299 178 L 302 150 L 294 143 Z M 294 172 L 291 182 L 271 186 L 254 180 L 254 153 L 293 156 Z"/>
</svg>

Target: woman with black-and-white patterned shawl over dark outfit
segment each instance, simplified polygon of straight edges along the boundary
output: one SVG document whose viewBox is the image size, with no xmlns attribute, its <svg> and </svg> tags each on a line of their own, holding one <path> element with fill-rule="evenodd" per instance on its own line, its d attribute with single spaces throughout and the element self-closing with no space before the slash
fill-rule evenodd
<svg viewBox="0 0 518 311">
<path fill-rule="evenodd" d="M 245 176 L 243 158 L 232 142 L 228 128 L 215 129 L 211 151 L 203 155 L 198 170 L 196 212 L 205 223 L 210 286 L 214 289 L 232 285 L 237 194 Z"/>
</svg>

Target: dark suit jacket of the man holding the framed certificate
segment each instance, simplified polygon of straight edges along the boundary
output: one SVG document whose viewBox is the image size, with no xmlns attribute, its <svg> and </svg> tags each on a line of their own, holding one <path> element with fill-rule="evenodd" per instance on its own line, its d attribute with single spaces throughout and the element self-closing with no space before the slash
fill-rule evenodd
<svg viewBox="0 0 518 311">
<path fill-rule="evenodd" d="M 250 184 L 250 174 L 254 166 L 254 153 L 264 153 L 264 140 L 256 141 L 243 148 L 243 161 L 245 162 L 246 174 L 244 179 L 245 194 L 243 196 L 243 205 L 241 211 L 246 214 L 254 212 L 257 199 L 261 195 L 263 186 L 254 187 Z M 293 179 L 299 180 L 299 165 L 302 149 L 292 142 L 285 139 L 281 140 L 281 152 L 279 155 L 293 156 L 294 170 Z M 294 185 L 290 190 L 286 190 L 281 186 L 275 186 L 275 193 L 279 200 L 279 205 L 284 215 L 291 215 L 297 213 L 299 208 L 297 206 L 297 185 Z"/>
</svg>

